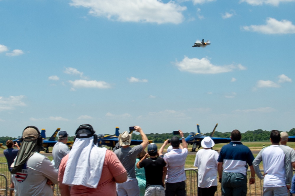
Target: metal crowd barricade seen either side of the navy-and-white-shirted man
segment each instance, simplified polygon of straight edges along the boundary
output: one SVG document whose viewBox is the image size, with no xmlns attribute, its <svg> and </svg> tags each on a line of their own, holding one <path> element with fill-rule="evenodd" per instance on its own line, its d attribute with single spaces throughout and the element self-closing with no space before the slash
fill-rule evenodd
<svg viewBox="0 0 295 196">
<path fill-rule="evenodd" d="M 263 172 L 263 170 L 260 170 Z M 196 196 L 198 195 L 198 169 L 197 168 L 185 168 L 186 172 L 186 195 Z M 251 176 L 250 170 L 247 170 L 247 178 Z M 247 183 L 247 195 L 249 196 L 261 196 L 263 195 L 263 180 L 260 180 L 257 175 L 255 175 L 255 183 L 249 185 L 249 180 Z M 221 184 L 217 182 L 216 196 L 221 194 Z"/>
</svg>

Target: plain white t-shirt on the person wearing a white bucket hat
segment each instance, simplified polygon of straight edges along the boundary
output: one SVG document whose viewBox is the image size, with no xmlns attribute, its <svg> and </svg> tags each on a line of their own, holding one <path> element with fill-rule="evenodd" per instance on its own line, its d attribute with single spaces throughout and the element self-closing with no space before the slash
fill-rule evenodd
<svg viewBox="0 0 295 196">
<path fill-rule="evenodd" d="M 198 187 L 217 186 L 218 157 L 218 152 L 211 149 L 201 149 L 196 153 L 194 166 L 198 167 Z"/>
</svg>

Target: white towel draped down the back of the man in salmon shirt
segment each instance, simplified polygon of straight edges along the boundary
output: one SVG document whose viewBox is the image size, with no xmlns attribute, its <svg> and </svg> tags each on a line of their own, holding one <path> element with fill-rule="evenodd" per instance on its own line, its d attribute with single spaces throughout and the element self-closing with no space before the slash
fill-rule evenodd
<svg viewBox="0 0 295 196">
<path fill-rule="evenodd" d="M 63 184 L 96 188 L 101 178 L 106 150 L 94 145 L 93 136 L 77 138 L 65 166 Z"/>
</svg>

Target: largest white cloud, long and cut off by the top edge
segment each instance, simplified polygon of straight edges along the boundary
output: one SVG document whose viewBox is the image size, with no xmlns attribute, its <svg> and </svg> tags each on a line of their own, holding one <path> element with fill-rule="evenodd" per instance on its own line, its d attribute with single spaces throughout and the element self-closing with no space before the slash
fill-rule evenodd
<svg viewBox="0 0 295 196">
<path fill-rule="evenodd" d="M 149 22 L 179 24 L 184 20 L 180 6 L 175 1 L 158 0 L 72 0 L 71 6 L 89 8 L 89 14 L 121 22 Z"/>
</svg>

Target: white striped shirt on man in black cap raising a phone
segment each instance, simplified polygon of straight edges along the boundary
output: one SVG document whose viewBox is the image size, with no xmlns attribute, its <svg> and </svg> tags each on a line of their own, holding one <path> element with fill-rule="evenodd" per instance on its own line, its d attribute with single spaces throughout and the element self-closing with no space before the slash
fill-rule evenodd
<svg viewBox="0 0 295 196">
<path fill-rule="evenodd" d="M 166 162 L 167 181 L 168 183 L 182 182 L 186 180 L 184 171 L 185 160 L 188 154 L 187 148 L 172 149 L 165 153 L 164 160 Z"/>
</svg>

